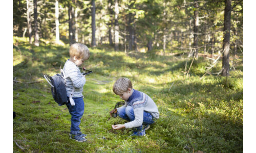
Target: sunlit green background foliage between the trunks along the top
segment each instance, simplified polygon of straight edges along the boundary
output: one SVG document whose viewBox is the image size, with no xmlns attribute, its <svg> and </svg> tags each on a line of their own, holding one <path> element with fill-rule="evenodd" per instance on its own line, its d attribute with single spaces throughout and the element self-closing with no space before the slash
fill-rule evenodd
<svg viewBox="0 0 256 153">
<path fill-rule="evenodd" d="M 31 0 L 29 0 L 31 1 Z M 75 2 L 75 4 L 74 4 Z M 140 0 L 118 1 L 119 45 L 125 50 L 131 43 L 135 48 L 145 47 L 153 41 L 153 47 L 162 49 L 164 36 L 166 50 L 173 52 L 178 48 L 187 50 L 193 44 L 194 11 L 199 12 L 198 46 L 199 53 L 216 54 L 222 49 L 224 1 L 194 0 Z M 13 1 L 13 35 L 28 37 L 26 1 Z M 32 3 L 32 2 L 31 2 Z M 38 1 L 38 30 L 40 38 L 55 39 L 55 0 Z M 68 6 L 75 7 L 77 41 L 91 44 L 91 3 L 90 1 L 59 1 L 59 33 L 61 41 L 69 43 Z M 111 34 L 114 39 L 114 1 L 95 1 L 96 41 L 97 44 L 109 43 Z M 31 16 L 33 24 L 33 15 Z M 25 33 L 26 32 L 26 33 Z M 32 31 L 32 34 L 34 31 Z M 136 42 L 135 42 L 136 38 Z M 131 44 L 129 44 L 131 45 Z M 232 1 L 230 53 L 243 52 L 243 1 Z"/>
</svg>

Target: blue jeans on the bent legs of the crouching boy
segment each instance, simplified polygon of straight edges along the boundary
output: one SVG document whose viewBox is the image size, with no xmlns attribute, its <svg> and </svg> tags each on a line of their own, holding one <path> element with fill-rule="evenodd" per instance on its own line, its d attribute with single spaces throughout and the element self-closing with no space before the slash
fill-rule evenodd
<svg viewBox="0 0 256 153">
<path fill-rule="evenodd" d="M 119 115 L 119 117 L 121 117 L 127 121 L 133 121 L 135 119 L 133 107 L 131 107 L 131 106 L 120 108 L 118 110 L 118 115 Z M 147 125 L 147 124 L 152 124 L 154 122 L 155 122 L 155 120 L 154 120 L 154 117 L 151 115 L 151 113 L 144 111 L 142 124 Z"/>
</svg>

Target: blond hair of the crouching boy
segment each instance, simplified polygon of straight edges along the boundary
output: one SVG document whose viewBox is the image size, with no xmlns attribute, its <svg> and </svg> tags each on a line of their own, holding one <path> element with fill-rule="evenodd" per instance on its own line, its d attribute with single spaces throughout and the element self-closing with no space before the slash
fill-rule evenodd
<svg viewBox="0 0 256 153">
<path fill-rule="evenodd" d="M 128 90 L 133 89 L 132 82 L 128 78 L 119 78 L 113 85 L 113 92 L 121 95 Z"/>
</svg>

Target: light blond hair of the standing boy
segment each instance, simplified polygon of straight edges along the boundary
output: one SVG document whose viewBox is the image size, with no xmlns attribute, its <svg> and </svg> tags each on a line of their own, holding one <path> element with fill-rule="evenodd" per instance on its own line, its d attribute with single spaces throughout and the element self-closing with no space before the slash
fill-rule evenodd
<svg viewBox="0 0 256 153">
<path fill-rule="evenodd" d="M 86 45 L 82 43 L 74 43 L 69 49 L 70 58 L 77 57 L 78 59 L 88 60 L 90 58 L 90 52 Z"/>
</svg>

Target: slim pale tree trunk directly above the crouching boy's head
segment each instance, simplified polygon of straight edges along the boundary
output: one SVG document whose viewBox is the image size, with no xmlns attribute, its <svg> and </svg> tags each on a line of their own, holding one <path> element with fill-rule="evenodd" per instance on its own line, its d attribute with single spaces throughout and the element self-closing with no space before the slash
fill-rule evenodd
<svg viewBox="0 0 256 153">
<path fill-rule="evenodd" d="M 115 0 L 115 50 L 119 50 L 118 0 Z"/>
</svg>

